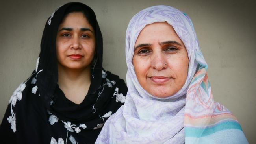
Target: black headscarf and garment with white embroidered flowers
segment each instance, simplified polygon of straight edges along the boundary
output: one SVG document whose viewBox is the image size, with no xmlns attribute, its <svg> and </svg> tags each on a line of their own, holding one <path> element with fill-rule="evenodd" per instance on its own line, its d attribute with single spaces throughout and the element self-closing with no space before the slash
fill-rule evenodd
<svg viewBox="0 0 256 144">
<path fill-rule="evenodd" d="M 63 18 L 81 11 L 95 31 L 96 53 L 91 85 L 80 104 L 68 100 L 59 86 L 56 35 Z M 124 104 L 127 87 L 119 76 L 102 68 L 102 34 L 93 10 L 67 3 L 48 18 L 37 66 L 11 96 L 0 126 L 0 143 L 94 143 L 108 117 Z"/>
</svg>

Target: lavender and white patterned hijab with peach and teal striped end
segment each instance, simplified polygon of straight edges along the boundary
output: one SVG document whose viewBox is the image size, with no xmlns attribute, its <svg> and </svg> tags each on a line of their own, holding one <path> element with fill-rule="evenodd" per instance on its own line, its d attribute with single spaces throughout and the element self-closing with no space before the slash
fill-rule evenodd
<svg viewBox="0 0 256 144">
<path fill-rule="evenodd" d="M 173 26 L 186 46 L 189 68 L 182 89 L 172 96 L 157 98 L 139 84 L 132 58 L 141 30 L 148 24 L 165 21 Z M 206 74 L 208 65 L 186 13 L 160 5 L 134 15 L 126 31 L 126 63 L 128 93 L 125 104 L 107 120 L 96 144 L 184 144 L 185 139 L 186 143 L 230 143 L 238 139 L 234 136 L 244 140 L 240 142 L 247 142 L 236 118 L 213 101 Z M 226 123 L 219 128 L 221 122 Z M 223 133 L 232 133 L 228 134 L 232 136 L 226 138 L 221 136 Z"/>
</svg>

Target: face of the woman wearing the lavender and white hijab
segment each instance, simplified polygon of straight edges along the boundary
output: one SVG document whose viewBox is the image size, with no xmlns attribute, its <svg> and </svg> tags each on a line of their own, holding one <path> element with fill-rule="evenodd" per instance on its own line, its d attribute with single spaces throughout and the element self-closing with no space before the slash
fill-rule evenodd
<svg viewBox="0 0 256 144">
<path fill-rule="evenodd" d="M 167 22 L 143 28 L 135 43 L 132 63 L 143 89 L 159 98 L 178 92 L 187 79 L 187 50 Z"/>
</svg>

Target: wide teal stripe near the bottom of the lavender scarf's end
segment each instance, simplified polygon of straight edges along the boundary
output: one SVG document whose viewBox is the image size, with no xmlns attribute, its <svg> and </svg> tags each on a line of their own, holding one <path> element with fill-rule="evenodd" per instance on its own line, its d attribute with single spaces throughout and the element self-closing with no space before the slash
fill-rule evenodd
<svg viewBox="0 0 256 144">
<path fill-rule="evenodd" d="M 238 122 L 225 121 L 213 127 L 208 126 L 204 129 L 195 128 L 195 127 L 185 127 L 185 135 L 186 137 L 205 137 L 207 135 L 211 135 L 215 132 L 223 131 L 225 129 L 239 129 L 243 131 Z"/>
</svg>

